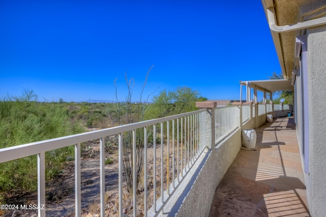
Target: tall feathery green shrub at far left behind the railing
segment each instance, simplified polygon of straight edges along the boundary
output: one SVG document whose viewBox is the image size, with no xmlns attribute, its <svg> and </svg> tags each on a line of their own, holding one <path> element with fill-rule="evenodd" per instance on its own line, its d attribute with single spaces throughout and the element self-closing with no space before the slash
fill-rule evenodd
<svg viewBox="0 0 326 217">
<path fill-rule="evenodd" d="M 0 148 L 82 132 L 79 123 L 71 121 L 68 113 L 58 103 L 0 101 Z M 73 153 L 73 146 L 46 152 L 46 179 L 60 173 Z M 0 192 L 36 188 L 36 155 L 0 164 Z"/>
</svg>

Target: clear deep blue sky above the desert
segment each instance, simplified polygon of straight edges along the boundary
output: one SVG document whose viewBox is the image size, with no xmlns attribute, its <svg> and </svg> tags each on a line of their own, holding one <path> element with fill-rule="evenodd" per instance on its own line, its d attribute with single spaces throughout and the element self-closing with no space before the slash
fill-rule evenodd
<svg viewBox="0 0 326 217">
<path fill-rule="evenodd" d="M 0 98 L 124 100 L 188 86 L 239 99 L 240 80 L 281 72 L 261 1 L 0 1 Z M 151 97 L 150 97 L 151 99 Z"/>
</svg>

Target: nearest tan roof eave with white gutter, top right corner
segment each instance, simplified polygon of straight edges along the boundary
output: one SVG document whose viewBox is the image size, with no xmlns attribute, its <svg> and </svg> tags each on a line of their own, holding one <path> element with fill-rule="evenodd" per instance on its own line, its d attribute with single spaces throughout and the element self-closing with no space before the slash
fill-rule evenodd
<svg viewBox="0 0 326 217">
<path fill-rule="evenodd" d="M 299 66 L 295 58 L 297 36 L 307 29 L 326 23 L 325 1 L 320 0 L 261 0 L 277 56 L 285 79 Z"/>
</svg>

